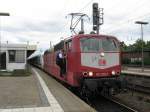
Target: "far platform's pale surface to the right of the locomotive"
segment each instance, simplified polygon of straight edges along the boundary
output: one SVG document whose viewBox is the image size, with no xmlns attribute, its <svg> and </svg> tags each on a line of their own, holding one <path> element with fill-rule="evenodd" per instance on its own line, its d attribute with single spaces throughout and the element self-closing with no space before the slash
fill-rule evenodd
<svg viewBox="0 0 150 112">
<path fill-rule="evenodd" d="M 142 71 L 142 69 L 139 67 L 124 67 L 121 70 L 121 73 L 150 77 L 150 68 L 144 68 L 144 71 Z"/>
</svg>

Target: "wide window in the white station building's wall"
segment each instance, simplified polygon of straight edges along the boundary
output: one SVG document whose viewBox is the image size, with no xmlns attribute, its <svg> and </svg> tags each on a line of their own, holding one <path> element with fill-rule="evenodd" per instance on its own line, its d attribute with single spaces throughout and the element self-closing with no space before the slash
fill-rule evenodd
<svg viewBox="0 0 150 112">
<path fill-rule="evenodd" d="M 9 51 L 9 62 L 10 63 L 24 63 L 25 62 L 25 51 L 10 50 Z"/>
</svg>

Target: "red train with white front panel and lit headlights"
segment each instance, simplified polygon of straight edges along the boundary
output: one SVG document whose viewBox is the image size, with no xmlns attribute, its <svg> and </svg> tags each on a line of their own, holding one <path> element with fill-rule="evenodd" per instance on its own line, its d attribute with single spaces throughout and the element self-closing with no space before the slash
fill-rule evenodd
<svg viewBox="0 0 150 112">
<path fill-rule="evenodd" d="M 60 76 L 57 53 L 65 50 L 66 72 Z M 28 62 L 40 67 L 81 94 L 110 91 L 121 87 L 120 42 L 114 36 L 77 34 L 64 39 L 43 54 L 30 56 Z"/>
</svg>

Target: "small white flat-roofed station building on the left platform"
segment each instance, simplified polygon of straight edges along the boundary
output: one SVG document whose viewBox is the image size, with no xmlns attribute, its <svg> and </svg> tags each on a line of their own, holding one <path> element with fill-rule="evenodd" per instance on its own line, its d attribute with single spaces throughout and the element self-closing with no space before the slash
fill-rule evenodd
<svg viewBox="0 0 150 112">
<path fill-rule="evenodd" d="M 25 69 L 27 57 L 36 50 L 36 45 L 1 44 L 0 70 Z"/>
</svg>

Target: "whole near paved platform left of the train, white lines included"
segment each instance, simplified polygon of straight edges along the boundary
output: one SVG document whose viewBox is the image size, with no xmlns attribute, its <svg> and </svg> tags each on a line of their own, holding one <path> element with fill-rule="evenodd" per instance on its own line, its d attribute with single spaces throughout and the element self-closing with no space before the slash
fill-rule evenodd
<svg viewBox="0 0 150 112">
<path fill-rule="evenodd" d="M 0 101 L 3 105 L 2 107 L 7 106 L 6 108 L 1 108 L 0 112 L 95 112 L 93 108 L 46 73 L 36 68 L 32 68 L 32 71 L 34 75 L 30 77 L 0 78 L 2 86 L 0 87 L 3 88 L 3 92 L 0 92 Z M 6 78 L 5 81 L 3 78 Z M 7 84 L 8 80 L 10 84 Z M 30 98 L 24 97 L 25 95 Z M 5 101 L 6 99 L 7 101 Z M 11 102 L 10 107 L 8 107 L 8 101 Z M 17 103 L 14 103 L 16 101 Z M 25 102 L 27 102 L 28 106 L 22 106 Z"/>
</svg>

